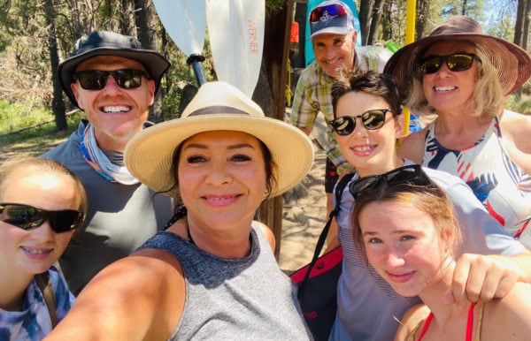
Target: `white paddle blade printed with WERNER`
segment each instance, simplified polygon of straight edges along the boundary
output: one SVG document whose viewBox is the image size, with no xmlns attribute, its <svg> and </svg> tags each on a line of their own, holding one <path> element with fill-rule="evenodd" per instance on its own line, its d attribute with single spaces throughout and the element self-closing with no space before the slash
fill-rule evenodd
<svg viewBox="0 0 531 341">
<path fill-rule="evenodd" d="M 265 0 L 206 0 L 206 19 L 218 80 L 252 97 L 264 49 Z"/>
</svg>

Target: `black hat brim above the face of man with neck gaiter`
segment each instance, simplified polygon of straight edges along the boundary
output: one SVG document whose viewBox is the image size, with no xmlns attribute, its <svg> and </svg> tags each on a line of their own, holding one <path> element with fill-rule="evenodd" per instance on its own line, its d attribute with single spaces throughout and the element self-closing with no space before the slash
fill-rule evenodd
<svg viewBox="0 0 531 341">
<path fill-rule="evenodd" d="M 68 96 L 70 101 L 72 101 L 78 107 L 78 102 L 76 101 L 72 92 L 72 88 L 70 87 L 70 85 L 73 83 L 73 72 L 75 72 L 77 65 L 81 64 L 81 62 L 96 56 L 124 57 L 141 63 L 146 68 L 146 71 L 150 74 L 150 79 L 155 81 L 155 94 L 157 94 L 158 87 L 160 87 L 160 80 L 162 76 L 170 67 L 170 62 L 168 62 L 165 57 L 163 57 L 157 51 L 150 49 L 112 49 L 105 47 L 99 49 L 90 49 L 89 51 L 81 53 L 80 55 L 65 59 L 65 61 L 58 66 L 59 82 L 61 83 L 61 87 L 63 87 L 63 91 L 65 91 L 65 94 Z"/>
</svg>

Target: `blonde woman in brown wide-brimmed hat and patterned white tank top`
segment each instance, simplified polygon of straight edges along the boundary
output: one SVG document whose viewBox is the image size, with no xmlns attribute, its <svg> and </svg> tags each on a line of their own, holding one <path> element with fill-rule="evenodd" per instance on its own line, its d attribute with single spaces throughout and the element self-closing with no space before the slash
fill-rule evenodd
<svg viewBox="0 0 531 341">
<path fill-rule="evenodd" d="M 405 138 L 401 154 L 463 178 L 531 248 L 531 228 L 524 231 L 531 218 L 531 117 L 503 108 L 504 97 L 531 75 L 527 52 L 458 16 L 398 50 L 384 72 L 404 91 L 406 107 L 437 114 Z"/>
</svg>

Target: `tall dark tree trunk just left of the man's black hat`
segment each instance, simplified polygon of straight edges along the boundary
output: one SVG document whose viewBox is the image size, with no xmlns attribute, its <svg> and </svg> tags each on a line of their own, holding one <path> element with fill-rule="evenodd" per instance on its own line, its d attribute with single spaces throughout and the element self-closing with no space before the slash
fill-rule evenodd
<svg viewBox="0 0 531 341">
<path fill-rule="evenodd" d="M 56 11 L 53 7 L 53 0 L 44 0 L 44 16 L 46 18 L 46 26 L 48 31 L 48 50 L 50 52 L 51 74 L 58 74 L 59 55 L 58 55 L 58 40 L 56 35 L 55 19 Z M 53 98 L 51 100 L 51 110 L 55 117 L 56 128 L 58 131 L 66 130 L 65 102 L 63 101 L 63 89 L 59 83 L 58 77 L 52 77 L 53 84 Z"/>
</svg>

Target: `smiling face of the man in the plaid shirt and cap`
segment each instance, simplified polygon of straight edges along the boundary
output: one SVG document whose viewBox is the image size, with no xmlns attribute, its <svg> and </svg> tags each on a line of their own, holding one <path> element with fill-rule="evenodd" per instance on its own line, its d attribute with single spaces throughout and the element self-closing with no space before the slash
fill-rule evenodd
<svg viewBox="0 0 531 341">
<path fill-rule="evenodd" d="M 352 31 L 350 34 L 318 34 L 312 38 L 315 60 L 328 76 L 337 77 L 338 69 L 352 70 L 357 36 L 358 33 Z"/>
</svg>

